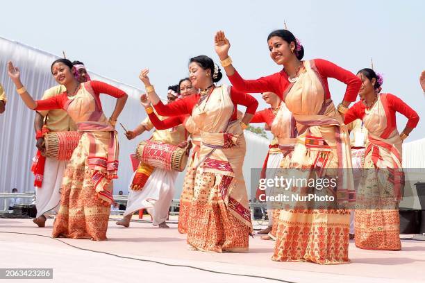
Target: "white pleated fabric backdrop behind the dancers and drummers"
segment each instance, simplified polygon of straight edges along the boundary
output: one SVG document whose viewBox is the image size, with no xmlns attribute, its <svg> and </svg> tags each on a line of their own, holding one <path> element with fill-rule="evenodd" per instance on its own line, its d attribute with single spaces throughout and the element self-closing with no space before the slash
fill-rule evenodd
<svg viewBox="0 0 425 283">
<path fill-rule="evenodd" d="M 45 89 L 56 85 L 51 76 L 50 67 L 51 62 L 57 58 L 58 56 L 51 53 L 0 37 L 0 83 L 8 96 L 6 112 L 0 114 L 0 192 L 11 192 L 14 187 L 19 192 L 34 191 L 33 175 L 30 169 L 31 159 L 36 152 L 33 128 L 35 113 L 28 110 L 18 97 L 15 85 L 8 77 L 6 63 L 8 60 L 12 60 L 19 67 L 26 89 L 34 98 L 38 99 L 41 98 Z M 78 58 L 72 58 L 72 60 L 78 60 Z M 90 70 L 90 66 L 88 69 Z M 141 89 L 100 76 L 92 71 L 89 73 L 92 80 L 101 80 L 114 85 L 128 94 L 126 107 L 118 120 L 127 129 L 135 128 L 146 117 L 146 113 L 139 103 Z M 106 117 L 109 117 L 113 112 L 116 100 L 108 95 L 101 95 L 101 101 Z M 244 111 L 244 109 L 240 110 Z M 114 181 L 114 194 L 118 194 L 119 190 L 127 194 L 128 182 L 132 174 L 129 155 L 135 152 L 139 141 L 148 139 L 151 134 L 145 132 L 133 141 L 128 141 L 124 136 L 124 130 L 118 124 L 116 130 L 119 132 L 119 179 Z M 247 156 L 244 163 L 244 177 L 249 185 L 250 169 L 263 165 L 268 150 L 268 141 L 251 132 L 246 132 L 246 137 Z M 178 174 L 175 198 L 179 198 L 181 194 L 184 175 L 184 172 Z M 249 187 L 247 189 L 249 191 Z M 3 207 L 0 207 L 1 209 Z"/>
</svg>

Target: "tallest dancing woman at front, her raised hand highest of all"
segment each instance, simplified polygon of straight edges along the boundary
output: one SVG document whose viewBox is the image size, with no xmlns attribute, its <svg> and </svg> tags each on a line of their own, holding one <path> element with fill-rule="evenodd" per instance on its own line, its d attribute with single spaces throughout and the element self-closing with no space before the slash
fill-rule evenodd
<svg viewBox="0 0 425 283">
<path fill-rule="evenodd" d="M 300 169 L 303 175 L 299 178 L 305 180 L 337 179 L 337 186 L 329 185 L 322 192 L 338 197 L 341 208 L 315 209 L 310 203 L 297 202 L 282 210 L 272 259 L 317 264 L 347 262 L 349 211 L 346 206 L 354 201 L 354 194 L 352 175 L 341 170 L 351 168 L 351 154 L 347 127 L 338 110 L 346 111 L 349 103 L 356 100 L 360 79 L 326 60 L 302 60 L 303 46 L 288 30 L 273 31 L 267 37 L 267 44 L 272 60 L 283 69 L 257 80 L 244 80 L 228 57 L 230 43 L 224 32 L 215 35 L 215 51 L 231 83 L 243 92 L 274 92 L 294 115 L 298 136 L 289 168 Z M 331 100 L 328 78 L 347 84 L 338 110 Z M 289 189 L 294 195 L 303 195 L 315 187 Z"/>
</svg>

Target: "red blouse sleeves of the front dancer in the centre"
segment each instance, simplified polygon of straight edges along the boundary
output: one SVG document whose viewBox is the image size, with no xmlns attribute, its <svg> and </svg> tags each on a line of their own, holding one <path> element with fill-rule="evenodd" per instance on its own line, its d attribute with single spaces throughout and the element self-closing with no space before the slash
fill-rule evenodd
<svg viewBox="0 0 425 283">
<path fill-rule="evenodd" d="M 173 101 L 172 103 L 168 103 L 164 105 L 162 101 L 153 105 L 156 112 L 158 114 L 174 117 L 178 115 L 184 114 L 192 114 L 192 110 L 194 105 L 196 105 L 201 98 L 201 94 L 192 94 L 191 96 L 186 96 L 177 101 Z M 258 101 L 253 96 L 246 94 L 244 92 L 239 92 L 235 87 L 231 87 L 231 100 L 233 104 L 235 104 L 235 110 L 237 109 L 237 105 L 244 105 L 247 107 L 248 114 L 254 114 L 258 107 Z M 231 117 L 231 121 L 236 120 L 237 111 L 233 112 Z"/>
</svg>

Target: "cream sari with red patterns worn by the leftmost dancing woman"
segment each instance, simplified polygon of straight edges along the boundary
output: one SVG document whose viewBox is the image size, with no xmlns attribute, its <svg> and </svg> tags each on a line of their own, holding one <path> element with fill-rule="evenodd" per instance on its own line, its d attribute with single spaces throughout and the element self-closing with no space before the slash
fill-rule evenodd
<svg viewBox="0 0 425 283">
<path fill-rule="evenodd" d="M 117 178 L 117 135 L 94 98 L 90 82 L 81 84 L 65 108 L 83 135 L 65 169 L 52 237 L 101 241 L 106 239 L 112 180 Z"/>
</svg>

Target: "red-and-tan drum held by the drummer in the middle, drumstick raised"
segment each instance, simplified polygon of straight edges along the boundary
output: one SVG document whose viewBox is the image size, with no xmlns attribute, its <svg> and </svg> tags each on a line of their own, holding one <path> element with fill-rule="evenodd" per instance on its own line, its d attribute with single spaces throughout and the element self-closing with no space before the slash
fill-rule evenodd
<svg viewBox="0 0 425 283">
<path fill-rule="evenodd" d="M 188 164 L 186 148 L 159 141 L 141 141 L 136 156 L 141 162 L 168 171 L 183 172 Z"/>
</svg>

